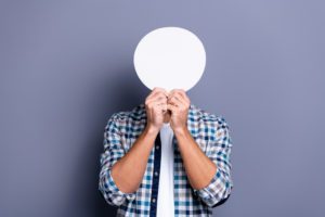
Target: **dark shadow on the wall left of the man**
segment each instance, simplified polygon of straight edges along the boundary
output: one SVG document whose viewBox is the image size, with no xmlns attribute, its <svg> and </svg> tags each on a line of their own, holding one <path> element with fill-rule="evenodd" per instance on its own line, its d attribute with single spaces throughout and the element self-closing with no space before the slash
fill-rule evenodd
<svg viewBox="0 0 325 217">
<path fill-rule="evenodd" d="M 80 163 L 75 169 L 72 200 L 80 202 L 81 216 L 107 217 L 116 215 L 116 207 L 106 203 L 99 191 L 100 154 L 103 152 L 103 133 L 108 117 L 114 112 L 128 111 L 144 101 L 148 93 L 133 68 L 123 68 L 117 76 L 107 76 L 94 90 L 98 103 L 93 104 L 93 129 L 90 129 Z M 114 80 L 113 80 L 113 79 Z M 89 99 L 91 103 L 93 99 Z M 81 169 L 80 169 L 81 168 Z M 76 193 L 75 193 L 76 192 Z"/>
</svg>

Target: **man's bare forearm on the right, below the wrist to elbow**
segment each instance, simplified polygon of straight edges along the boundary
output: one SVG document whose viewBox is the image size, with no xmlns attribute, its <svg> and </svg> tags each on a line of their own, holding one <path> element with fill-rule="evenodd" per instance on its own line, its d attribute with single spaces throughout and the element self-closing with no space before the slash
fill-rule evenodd
<svg viewBox="0 0 325 217">
<path fill-rule="evenodd" d="M 202 189 L 211 181 L 216 164 L 200 150 L 187 128 L 176 131 L 180 153 L 191 186 Z"/>
</svg>

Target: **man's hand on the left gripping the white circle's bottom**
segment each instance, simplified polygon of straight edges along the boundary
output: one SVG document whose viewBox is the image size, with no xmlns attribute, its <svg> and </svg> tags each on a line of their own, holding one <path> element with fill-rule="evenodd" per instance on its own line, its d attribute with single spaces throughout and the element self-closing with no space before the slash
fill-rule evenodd
<svg viewBox="0 0 325 217">
<path fill-rule="evenodd" d="M 150 131 L 158 132 L 164 124 L 164 116 L 167 112 L 168 92 L 162 88 L 154 88 L 145 99 L 145 111 L 147 116 L 146 128 Z"/>
</svg>

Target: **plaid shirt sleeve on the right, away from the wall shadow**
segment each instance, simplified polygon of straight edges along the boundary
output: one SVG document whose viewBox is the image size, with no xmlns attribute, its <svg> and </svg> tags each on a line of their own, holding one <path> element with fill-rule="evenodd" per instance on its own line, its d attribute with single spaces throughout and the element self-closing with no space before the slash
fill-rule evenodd
<svg viewBox="0 0 325 217">
<path fill-rule="evenodd" d="M 216 207 L 227 200 L 233 189 L 230 158 L 232 139 L 229 126 L 222 117 L 218 119 L 217 127 L 209 132 L 212 133 L 212 139 L 208 142 L 206 155 L 217 165 L 217 170 L 208 186 L 193 191 L 206 205 Z"/>
</svg>

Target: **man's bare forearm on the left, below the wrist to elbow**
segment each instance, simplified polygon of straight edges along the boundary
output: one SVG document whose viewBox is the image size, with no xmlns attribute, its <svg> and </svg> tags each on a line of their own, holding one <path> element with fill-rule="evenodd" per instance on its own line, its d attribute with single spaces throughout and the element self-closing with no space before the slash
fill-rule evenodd
<svg viewBox="0 0 325 217">
<path fill-rule="evenodd" d="M 122 192 L 132 193 L 138 190 L 157 133 L 157 130 L 146 127 L 129 152 L 112 167 L 113 179 Z"/>
</svg>

